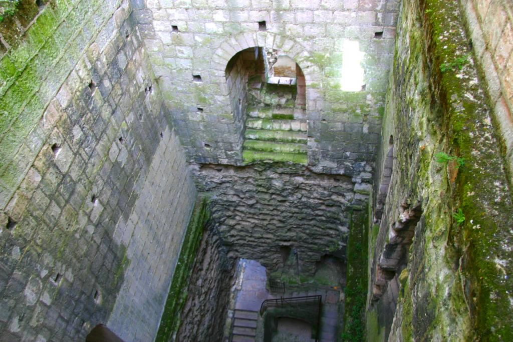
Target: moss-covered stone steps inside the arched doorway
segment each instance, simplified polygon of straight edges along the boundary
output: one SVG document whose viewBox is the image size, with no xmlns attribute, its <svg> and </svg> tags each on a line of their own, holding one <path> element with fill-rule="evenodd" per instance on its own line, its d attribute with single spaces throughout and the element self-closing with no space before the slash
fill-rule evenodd
<svg viewBox="0 0 513 342">
<path fill-rule="evenodd" d="M 243 159 L 307 164 L 306 119 L 294 118 L 293 108 L 248 108 Z"/>
</svg>

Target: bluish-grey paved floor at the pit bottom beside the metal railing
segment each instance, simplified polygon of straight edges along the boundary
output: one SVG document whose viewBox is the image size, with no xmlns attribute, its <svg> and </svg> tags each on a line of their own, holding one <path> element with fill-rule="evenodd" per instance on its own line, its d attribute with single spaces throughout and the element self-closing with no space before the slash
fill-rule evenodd
<svg viewBox="0 0 513 342">
<path fill-rule="evenodd" d="M 245 263 L 242 275 L 242 286 L 236 296 L 235 309 L 259 311 L 262 302 L 266 299 L 280 296 L 271 295 L 266 289 L 266 270 L 254 260 L 242 260 Z M 321 316 L 321 342 L 334 342 L 337 335 L 339 320 L 340 292 L 330 288 L 317 289 L 307 292 L 285 293 L 283 297 L 298 297 L 321 295 L 323 308 Z"/>
</svg>

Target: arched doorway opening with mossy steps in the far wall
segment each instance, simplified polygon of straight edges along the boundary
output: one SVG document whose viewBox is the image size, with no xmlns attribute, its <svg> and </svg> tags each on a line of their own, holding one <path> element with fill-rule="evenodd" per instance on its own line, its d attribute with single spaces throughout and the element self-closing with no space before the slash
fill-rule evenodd
<svg viewBox="0 0 513 342">
<path fill-rule="evenodd" d="M 301 67 L 276 50 L 252 47 L 230 59 L 225 77 L 235 123 L 244 132 L 244 162 L 306 164 L 306 83 Z"/>
</svg>

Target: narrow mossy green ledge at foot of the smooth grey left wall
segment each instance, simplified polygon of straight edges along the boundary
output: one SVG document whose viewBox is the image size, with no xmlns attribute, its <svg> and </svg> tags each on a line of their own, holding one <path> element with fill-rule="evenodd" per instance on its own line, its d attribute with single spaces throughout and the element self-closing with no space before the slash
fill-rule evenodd
<svg viewBox="0 0 513 342">
<path fill-rule="evenodd" d="M 155 341 L 170 341 L 180 328 L 180 315 L 187 299 L 187 286 L 194 267 L 196 252 L 201 243 L 203 228 L 210 217 L 208 199 L 198 197 L 189 226 L 185 233 L 180 257 L 174 269 L 171 287 L 164 306 L 159 331 Z"/>
</svg>

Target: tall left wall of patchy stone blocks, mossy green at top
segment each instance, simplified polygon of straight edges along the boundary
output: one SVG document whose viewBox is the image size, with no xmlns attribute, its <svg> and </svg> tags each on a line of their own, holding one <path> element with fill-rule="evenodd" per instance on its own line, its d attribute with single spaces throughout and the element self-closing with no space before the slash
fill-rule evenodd
<svg viewBox="0 0 513 342">
<path fill-rule="evenodd" d="M 2 134 L 0 340 L 83 340 L 106 323 L 120 292 L 117 305 L 134 293 L 126 285 L 140 281 L 137 270 L 157 257 L 161 278 L 148 283 L 160 288 L 147 295 L 167 293 L 172 267 L 163 269 L 166 253 L 156 247 L 166 244 L 152 244 L 155 230 L 173 227 L 180 244 L 194 192 L 190 180 L 164 183 L 170 174 L 175 182 L 184 177 L 185 159 L 130 15 L 127 1 L 51 1 L 33 22 L 35 31 L 2 58 L 11 66 L 2 74 L 2 109 L 13 121 Z M 155 155 L 181 162 L 152 165 Z M 146 217 L 142 204 L 156 200 L 163 184 L 175 191 L 170 201 L 178 209 L 159 207 L 161 216 Z M 172 208 L 166 200 L 161 205 Z M 131 240 L 125 224 L 135 225 Z M 146 253 L 136 254 L 135 245 Z M 153 317 L 124 314 L 156 325 L 159 310 L 162 304 L 153 305 Z"/>
</svg>

